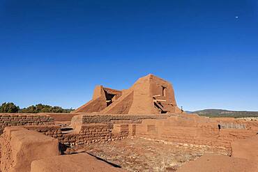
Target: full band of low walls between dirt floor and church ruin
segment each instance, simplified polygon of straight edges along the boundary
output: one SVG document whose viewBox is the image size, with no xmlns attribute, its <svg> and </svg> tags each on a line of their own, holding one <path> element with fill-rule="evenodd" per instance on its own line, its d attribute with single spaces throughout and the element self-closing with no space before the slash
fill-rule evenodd
<svg viewBox="0 0 258 172">
<path fill-rule="evenodd" d="M 206 118 L 193 114 L 80 114 L 73 116 L 73 130 L 70 133 L 63 132 L 59 125 L 53 124 L 54 120 L 47 115 L 1 114 L 2 130 L 10 125 L 26 125 L 24 127 L 29 130 L 42 132 L 65 144 L 87 144 L 141 136 L 173 143 L 230 148 L 235 139 L 245 139 L 258 132 L 257 121 Z"/>
</svg>

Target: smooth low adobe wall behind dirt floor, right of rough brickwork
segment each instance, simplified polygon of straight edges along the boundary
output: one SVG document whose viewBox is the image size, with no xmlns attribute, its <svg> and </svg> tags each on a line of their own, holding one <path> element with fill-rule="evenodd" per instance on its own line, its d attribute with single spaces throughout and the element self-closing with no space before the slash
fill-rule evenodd
<svg viewBox="0 0 258 172">
<path fill-rule="evenodd" d="M 165 120 L 143 120 L 136 125 L 135 133 L 149 139 L 230 149 L 235 139 L 245 139 L 257 132 L 255 121 L 181 114 Z"/>
</svg>

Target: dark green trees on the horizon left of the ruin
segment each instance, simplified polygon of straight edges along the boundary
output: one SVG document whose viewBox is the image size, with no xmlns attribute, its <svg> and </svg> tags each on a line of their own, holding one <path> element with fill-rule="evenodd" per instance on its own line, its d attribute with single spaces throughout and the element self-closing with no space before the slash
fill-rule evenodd
<svg viewBox="0 0 258 172">
<path fill-rule="evenodd" d="M 13 102 L 4 102 L 0 106 L 0 113 L 70 113 L 74 109 L 63 109 L 61 107 L 52 107 L 46 104 L 36 104 L 30 107 L 22 108 L 15 105 Z"/>
</svg>

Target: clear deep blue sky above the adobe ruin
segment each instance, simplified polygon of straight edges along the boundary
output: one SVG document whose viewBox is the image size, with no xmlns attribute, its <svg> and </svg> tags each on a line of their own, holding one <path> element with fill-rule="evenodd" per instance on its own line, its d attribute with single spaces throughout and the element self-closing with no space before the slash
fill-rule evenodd
<svg viewBox="0 0 258 172">
<path fill-rule="evenodd" d="M 0 103 L 76 108 L 149 73 L 187 110 L 258 111 L 257 0 L 0 0 Z"/>
</svg>

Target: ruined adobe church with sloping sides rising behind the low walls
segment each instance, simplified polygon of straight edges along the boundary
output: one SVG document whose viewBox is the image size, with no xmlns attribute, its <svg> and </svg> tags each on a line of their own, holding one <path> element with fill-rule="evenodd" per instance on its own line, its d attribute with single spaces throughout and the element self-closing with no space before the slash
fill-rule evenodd
<svg viewBox="0 0 258 172">
<path fill-rule="evenodd" d="M 172 84 L 147 75 L 129 89 L 118 91 L 96 86 L 92 100 L 74 111 L 101 114 L 171 114 L 180 113 Z"/>
</svg>

